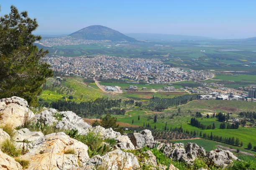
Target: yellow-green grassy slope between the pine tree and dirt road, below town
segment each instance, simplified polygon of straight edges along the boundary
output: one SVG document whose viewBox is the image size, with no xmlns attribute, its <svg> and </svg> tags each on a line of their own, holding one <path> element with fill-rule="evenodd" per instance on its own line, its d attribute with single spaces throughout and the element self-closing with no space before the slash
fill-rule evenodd
<svg viewBox="0 0 256 170">
<path fill-rule="evenodd" d="M 102 92 L 95 83 L 86 84 L 83 80 L 82 77 L 64 77 L 63 80 L 50 78 L 46 81 L 46 89 L 43 87 L 45 90 L 39 96 L 39 100 L 45 100 L 47 102 L 54 100 L 83 102 L 95 100 L 99 97 L 108 97 L 109 99 L 122 98 Z M 69 96 L 72 96 L 72 99 Z"/>
</svg>

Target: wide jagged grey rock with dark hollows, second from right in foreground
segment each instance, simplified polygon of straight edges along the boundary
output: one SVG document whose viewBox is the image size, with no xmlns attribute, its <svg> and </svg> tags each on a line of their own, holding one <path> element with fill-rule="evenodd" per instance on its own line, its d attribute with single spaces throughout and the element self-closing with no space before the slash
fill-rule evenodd
<svg viewBox="0 0 256 170">
<path fill-rule="evenodd" d="M 184 147 L 183 143 L 167 144 L 164 148 L 164 155 L 178 161 L 184 161 L 187 164 L 193 164 L 195 158 L 205 156 L 205 149 L 195 143 L 187 143 Z"/>
</svg>

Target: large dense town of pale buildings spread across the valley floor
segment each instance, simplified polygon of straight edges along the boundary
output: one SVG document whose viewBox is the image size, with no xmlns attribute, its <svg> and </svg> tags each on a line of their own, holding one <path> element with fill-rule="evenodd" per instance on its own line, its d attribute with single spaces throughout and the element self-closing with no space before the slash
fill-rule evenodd
<svg viewBox="0 0 256 170">
<path fill-rule="evenodd" d="M 44 57 L 54 71 L 95 79 L 129 79 L 148 83 L 205 80 L 214 77 L 207 70 L 191 70 L 164 65 L 159 59 L 122 58 L 108 55 Z"/>
</svg>

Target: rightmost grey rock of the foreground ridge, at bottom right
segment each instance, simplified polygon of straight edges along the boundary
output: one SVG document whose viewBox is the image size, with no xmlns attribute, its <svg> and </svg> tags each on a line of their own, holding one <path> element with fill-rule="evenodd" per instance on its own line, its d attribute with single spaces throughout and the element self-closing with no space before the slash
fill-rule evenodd
<svg viewBox="0 0 256 170">
<path fill-rule="evenodd" d="M 238 158 L 229 150 L 222 150 L 220 148 L 211 150 L 209 153 L 207 153 L 207 158 L 212 160 L 212 162 L 217 166 L 224 167 L 232 163 L 232 160 L 238 160 Z"/>
</svg>

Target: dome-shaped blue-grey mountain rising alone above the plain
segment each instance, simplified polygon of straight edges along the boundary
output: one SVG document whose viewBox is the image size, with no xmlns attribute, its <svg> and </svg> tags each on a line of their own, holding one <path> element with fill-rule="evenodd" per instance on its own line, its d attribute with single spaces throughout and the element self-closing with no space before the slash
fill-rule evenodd
<svg viewBox="0 0 256 170">
<path fill-rule="evenodd" d="M 73 32 L 69 36 L 79 39 L 86 40 L 111 40 L 111 41 L 128 41 L 136 42 L 137 40 L 128 37 L 116 30 L 102 26 L 102 25 L 92 25 L 83 28 L 77 32 Z"/>
</svg>

